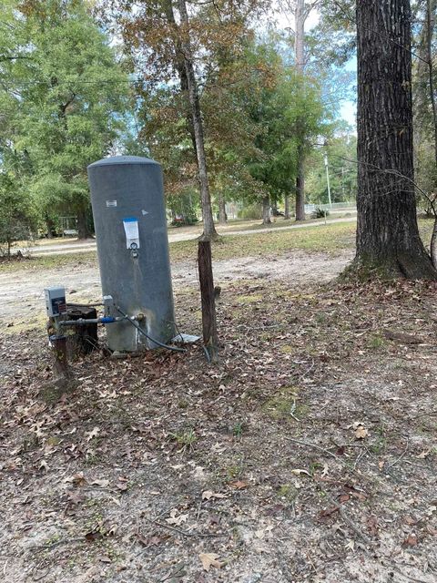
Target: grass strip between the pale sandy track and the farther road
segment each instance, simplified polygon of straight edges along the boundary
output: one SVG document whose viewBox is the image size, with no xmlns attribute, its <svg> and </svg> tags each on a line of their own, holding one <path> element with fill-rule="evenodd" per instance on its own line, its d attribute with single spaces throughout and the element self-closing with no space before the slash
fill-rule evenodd
<svg viewBox="0 0 437 583">
<path fill-rule="evenodd" d="M 419 226 L 425 246 L 429 246 L 432 220 L 420 220 Z M 355 245 L 355 220 L 351 222 L 309 225 L 295 230 L 263 232 L 257 230 L 249 235 L 229 235 L 213 244 L 213 258 L 216 261 L 241 257 L 278 257 L 290 251 L 325 252 L 338 254 L 353 250 Z M 170 243 L 170 257 L 174 262 L 196 260 L 197 240 Z M 96 267 L 97 253 L 70 253 L 36 257 L 25 261 L 10 261 L 0 264 L 0 272 L 47 271 L 57 268 Z"/>
</svg>

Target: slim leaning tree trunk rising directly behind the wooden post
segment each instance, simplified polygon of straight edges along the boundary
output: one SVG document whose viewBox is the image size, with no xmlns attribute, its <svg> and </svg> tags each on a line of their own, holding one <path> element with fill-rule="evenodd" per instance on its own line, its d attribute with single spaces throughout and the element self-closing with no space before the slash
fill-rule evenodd
<svg viewBox="0 0 437 583">
<path fill-rule="evenodd" d="M 185 0 L 178 0 L 178 8 L 181 24 L 188 27 L 188 12 Z M 188 32 L 185 31 L 185 32 Z M 193 57 L 189 41 L 181 43 L 184 53 L 184 66 L 187 74 L 188 98 L 193 118 L 194 135 L 196 138 L 196 153 L 198 158 L 198 182 L 200 187 L 200 199 L 202 203 L 203 234 L 202 239 L 217 239 L 216 228 L 212 217 L 211 197 L 209 194 L 207 158 L 205 155 L 205 141 L 203 134 L 203 122 L 198 98 L 198 83 L 194 73 Z"/>
</svg>

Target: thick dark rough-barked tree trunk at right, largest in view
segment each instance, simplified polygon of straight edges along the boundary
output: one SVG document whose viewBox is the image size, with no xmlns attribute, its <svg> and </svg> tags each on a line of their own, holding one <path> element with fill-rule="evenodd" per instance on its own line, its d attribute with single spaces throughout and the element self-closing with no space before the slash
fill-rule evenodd
<svg viewBox="0 0 437 583">
<path fill-rule="evenodd" d="M 416 217 L 410 23 L 409 0 L 357 0 L 355 262 L 384 276 L 435 279 Z"/>
</svg>

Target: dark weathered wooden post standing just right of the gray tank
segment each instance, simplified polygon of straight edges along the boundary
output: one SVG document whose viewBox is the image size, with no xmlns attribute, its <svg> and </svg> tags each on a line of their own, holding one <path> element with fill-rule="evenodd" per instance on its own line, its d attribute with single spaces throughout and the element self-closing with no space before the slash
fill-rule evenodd
<svg viewBox="0 0 437 583">
<path fill-rule="evenodd" d="M 219 338 L 217 335 L 216 300 L 212 277 L 211 242 L 198 241 L 198 280 L 202 299 L 203 342 L 211 363 L 219 360 Z"/>
</svg>

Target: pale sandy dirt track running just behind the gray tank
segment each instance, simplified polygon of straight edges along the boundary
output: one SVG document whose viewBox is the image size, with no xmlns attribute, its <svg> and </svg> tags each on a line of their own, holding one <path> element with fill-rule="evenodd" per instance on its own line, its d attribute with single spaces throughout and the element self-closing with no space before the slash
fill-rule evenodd
<svg viewBox="0 0 437 583">
<path fill-rule="evenodd" d="M 325 282 L 336 277 L 351 260 L 350 253 L 331 257 L 323 253 L 293 251 L 278 259 L 244 257 L 214 262 L 216 285 L 244 279 L 287 280 L 290 285 L 304 282 Z M 197 268 L 194 261 L 183 261 L 172 265 L 175 291 L 197 282 Z M 0 302 L 2 313 L 0 328 L 11 329 L 25 322 L 39 321 L 45 315 L 44 288 L 64 285 L 68 302 L 100 302 L 101 289 L 98 267 L 81 264 L 68 266 L 68 271 L 51 269 L 42 271 L 15 271 L 0 273 Z M 14 324 L 14 326 L 11 326 Z M 11 330 L 12 332 L 12 330 Z"/>
</svg>

